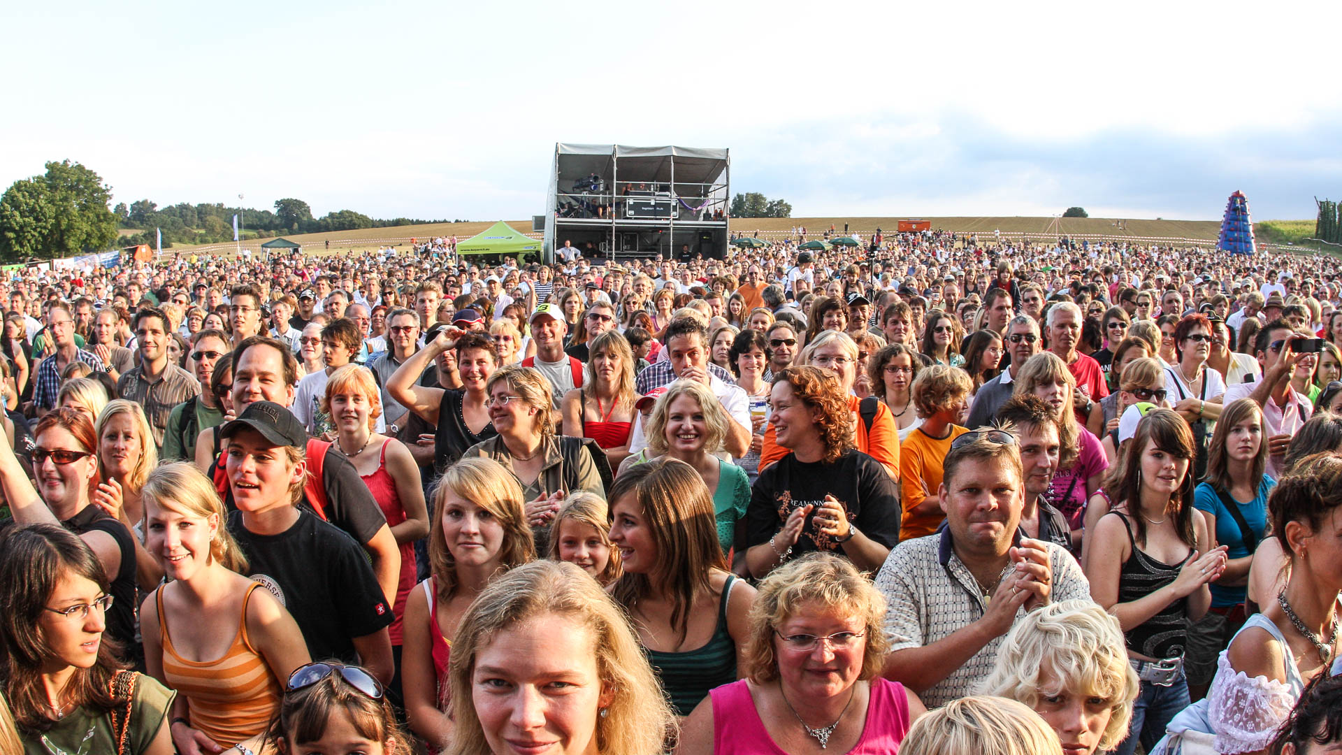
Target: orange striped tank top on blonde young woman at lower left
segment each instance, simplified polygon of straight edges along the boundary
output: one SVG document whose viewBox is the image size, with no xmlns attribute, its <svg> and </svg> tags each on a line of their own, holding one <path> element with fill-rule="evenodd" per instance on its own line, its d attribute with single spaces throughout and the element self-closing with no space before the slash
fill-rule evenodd
<svg viewBox="0 0 1342 755">
<path fill-rule="evenodd" d="M 247 602 L 258 587 L 259 583 L 247 588 L 234 643 L 221 658 L 213 661 L 188 661 L 177 654 L 164 617 L 162 590 L 157 594 L 164 678 L 168 686 L 187 697 L 192 728 L 200 729 L 224 748 L 264 731 L 279 707 L 279 680 L 247 639 Z"/>
</svg>

